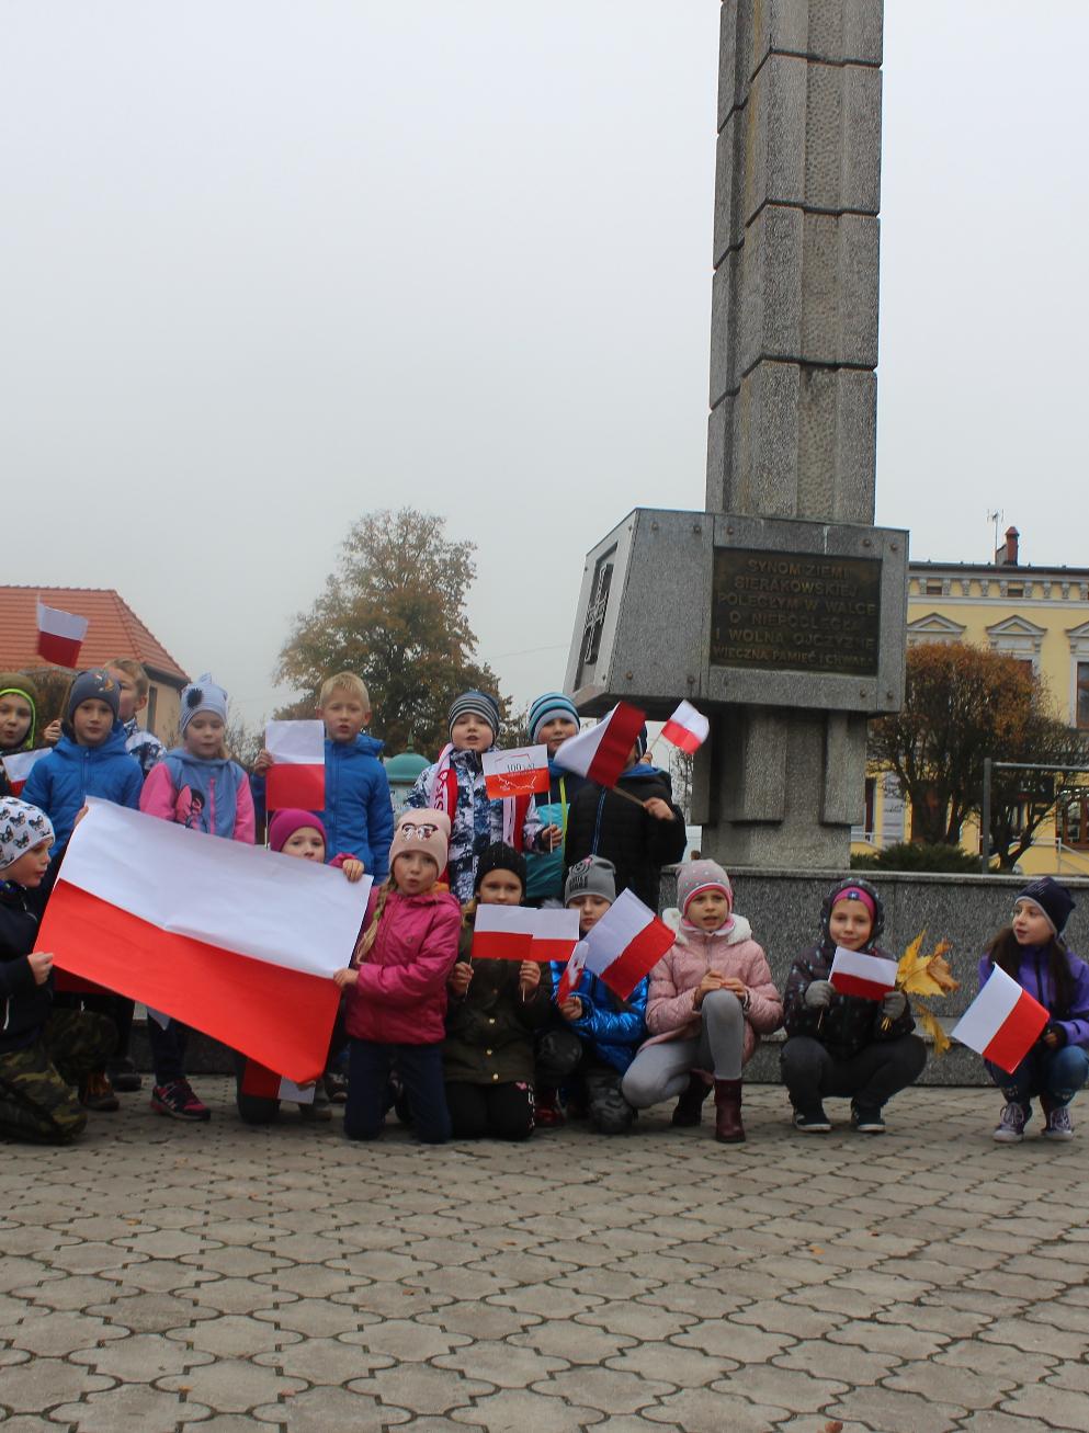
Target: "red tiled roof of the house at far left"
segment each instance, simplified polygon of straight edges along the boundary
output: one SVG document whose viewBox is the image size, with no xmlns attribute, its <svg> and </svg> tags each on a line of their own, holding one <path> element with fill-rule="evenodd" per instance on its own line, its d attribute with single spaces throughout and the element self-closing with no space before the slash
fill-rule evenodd
<svg viewBox="0 0 1089 1433">
<path fill-rule="evenodd" d="M 113 588 L 0 586 L 0 668 L 33 671 L 46 663 L 37 655 L 37 599 L 87 619 L 82 666 L 100 666 L 113 656 L 136 656 L 149 675 L 171 686 L 189 681 L 162 642 L 140 622 Z"/>
</svg>

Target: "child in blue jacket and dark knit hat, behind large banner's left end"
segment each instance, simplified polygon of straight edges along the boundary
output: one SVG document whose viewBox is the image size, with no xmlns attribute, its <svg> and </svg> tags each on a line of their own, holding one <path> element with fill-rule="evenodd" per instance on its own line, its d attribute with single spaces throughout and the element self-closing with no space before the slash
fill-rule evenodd
<svg viewBox="0 0 1089 1433">
<path fill-rule="evenodd" d="M 143 772 L 125 749 L 117 719 L 120 692 L 100 666 L 80 672 L 67 696 L 60 741 L 43 757 L 23 787 L 23 800 L 53 823 L 56 848 L 63 850 L 87 797 L 103 797 L 133 811 L 140 804 Z"/>
</svg>

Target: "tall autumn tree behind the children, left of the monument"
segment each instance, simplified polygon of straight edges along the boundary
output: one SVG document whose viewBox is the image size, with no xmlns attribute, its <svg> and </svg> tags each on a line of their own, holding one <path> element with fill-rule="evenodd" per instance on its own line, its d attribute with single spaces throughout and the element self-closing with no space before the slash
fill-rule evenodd
<svg viewBox="0 0 1089 1433">
<path fill-rule="evenodd" d="M 277 715 L 312 715 L 327 676 L 357 672 L 374 708 L 371 734 L 391 752 L 411 741 L 421 755 L 437 757 L 459 692 L 481 688 L 499 696 L 499 678 L 473 656 L 466 595 L 474 552 L 473 543 L 447 539 L 443 517 L 411 507 L 355 523 L 325 590 L 297 616 L 279 653 L 277 678 L 305 695 Z"/>
</svg>

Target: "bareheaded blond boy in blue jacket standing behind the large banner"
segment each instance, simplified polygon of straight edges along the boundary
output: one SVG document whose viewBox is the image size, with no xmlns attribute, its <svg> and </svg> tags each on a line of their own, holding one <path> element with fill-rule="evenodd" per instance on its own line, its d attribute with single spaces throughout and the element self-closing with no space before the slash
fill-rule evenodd
<svg viewBox="0 0 1089 1433">
<path fill-rule="evenodd" d="M 320 813 L 328 850 L 354 856 L 381 886 L 390 874 L 393 798 L 383 742 L 363 728 L 371 719 L 365 684 L 354 672 L 337 672 L 321 685 L 318 716 L 325 724 L 325 810 Z M 272 757 L 262 751 L 251 785 L 258 815 L 265 813 L 265 772 Z"/>
</svg>

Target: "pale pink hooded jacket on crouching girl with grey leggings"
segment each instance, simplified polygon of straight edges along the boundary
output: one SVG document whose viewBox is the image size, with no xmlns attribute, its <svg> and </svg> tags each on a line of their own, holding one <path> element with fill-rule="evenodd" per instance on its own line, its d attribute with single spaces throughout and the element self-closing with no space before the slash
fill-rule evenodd
<svg viewBox="0 0 1089 1433">
<path fill-rule="evenodd" d="M 751 1005 L 745 1012 L 741 1059 L 742 1063 L 752 1059 L 758 1036 L 771 1035 L 782 1025 L 782 1000 L 749 923 L 735 916 L 729 930 L 708 934 L 682 920 L 678 910 L 668 910 L 663 920 L 676 930 L 676 941 L 651 972 L 646 1027 L 652 1035 L 646 1045 L 699 1036 L 699 1012 L 692 1009 L 692 1002 L 699 982 L 708 970 L 715 970 L 748 986 Z"/>
</svg>

